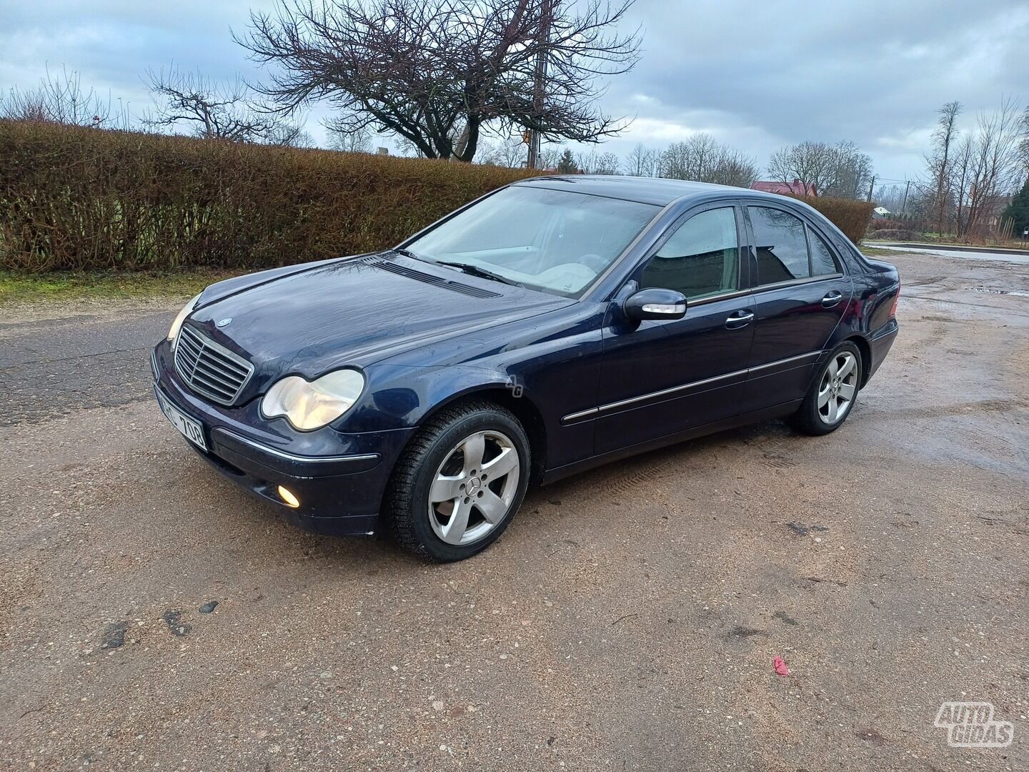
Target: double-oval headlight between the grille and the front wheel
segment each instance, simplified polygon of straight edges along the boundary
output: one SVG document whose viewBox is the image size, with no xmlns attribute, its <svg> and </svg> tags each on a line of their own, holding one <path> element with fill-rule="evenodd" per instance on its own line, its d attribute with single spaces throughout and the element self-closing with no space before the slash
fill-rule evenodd
<svg viewBox="0 0 1029 772">
<path fill-rule="evenodd" d="M 276 381 L 261 399 L 265 418 L 285 416 L 300 431 L 331 423 L 350 410 L 364 388 L 364 376 L 356 370 L 338 370 L 314 381 L 286 376 Z"/>
</svg>

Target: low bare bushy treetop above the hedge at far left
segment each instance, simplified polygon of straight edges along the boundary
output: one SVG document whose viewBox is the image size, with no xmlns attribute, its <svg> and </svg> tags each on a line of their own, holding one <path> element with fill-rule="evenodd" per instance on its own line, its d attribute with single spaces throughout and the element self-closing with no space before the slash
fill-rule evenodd
<svg viewBox="0 0 1029 772">
<path fill-rule="evenodd" d="M 94 126 L 103 129 L 129 129 L 125 106 L 113 113 L 111 98 L 105 101 L 93 89 L 83 90 L 81 75 L 62 68 L 60 74 L 46 75 L 33 90 L 11 89 L 0 96 L 0 118 L 40 120 L 70 126 Z"/>
</svg>

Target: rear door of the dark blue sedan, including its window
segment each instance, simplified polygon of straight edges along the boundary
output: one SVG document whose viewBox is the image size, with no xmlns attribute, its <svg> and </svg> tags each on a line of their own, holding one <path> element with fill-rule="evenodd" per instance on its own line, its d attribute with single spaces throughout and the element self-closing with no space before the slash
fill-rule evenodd
<svg viewBox="0 0 1029 772">
<path fill-rule="evenodd" d="M 785 207 L 747 206 L 747 230 L 756 318 L 743 412 L 804 396 L 853 293 L 839 255 Z"/>
</svg>

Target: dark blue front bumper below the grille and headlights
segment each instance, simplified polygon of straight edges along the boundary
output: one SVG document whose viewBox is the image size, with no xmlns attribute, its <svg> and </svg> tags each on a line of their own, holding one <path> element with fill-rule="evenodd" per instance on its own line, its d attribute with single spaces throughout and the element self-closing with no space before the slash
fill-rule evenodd
<svg viewBox="0 0 1029 772">
<path fill-rule="evenodd" d="M 294 432 L 282 419 L 261 418 L 257 399 L 222 408 L 194 394 L 175 373 L 167 341 L 154 347 L 150 362 L 154 390 L 203 425 L 208 450 L 189 446 L 218 471 L 301 528 L 338 534 L 378 530 L 383 492 L 414 428 Z M 299 505 L 286 504 L 279 486 L 292 492 Z"/>
</svg>

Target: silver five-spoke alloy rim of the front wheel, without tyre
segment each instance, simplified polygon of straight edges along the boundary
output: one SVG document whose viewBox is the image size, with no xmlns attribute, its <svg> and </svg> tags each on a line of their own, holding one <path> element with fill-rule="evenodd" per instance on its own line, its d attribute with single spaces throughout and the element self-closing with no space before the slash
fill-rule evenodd
<svg viewBox="0 0 1029 772">
<path fill-rule="evenodd" d="M 429 488 L 429 522 L 449 545 L 486 536 L 510 514 L 522 464 L 510 437 L 476 431 L 447 455 Z"/>
</svg>

